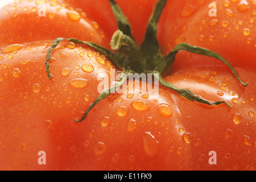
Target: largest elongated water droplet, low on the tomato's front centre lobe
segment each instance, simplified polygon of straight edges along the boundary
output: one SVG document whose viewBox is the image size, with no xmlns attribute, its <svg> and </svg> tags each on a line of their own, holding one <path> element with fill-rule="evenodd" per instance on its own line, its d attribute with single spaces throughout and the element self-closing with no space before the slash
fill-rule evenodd
<svg viewBox="0 0 256 182">
<path fill-rule="evenodd" d="M 159 150 L 158 140 L 150 132 L 143 133 L 142 138 L 144 151 L 148 156 L 153 157 Z"/>
</svg>

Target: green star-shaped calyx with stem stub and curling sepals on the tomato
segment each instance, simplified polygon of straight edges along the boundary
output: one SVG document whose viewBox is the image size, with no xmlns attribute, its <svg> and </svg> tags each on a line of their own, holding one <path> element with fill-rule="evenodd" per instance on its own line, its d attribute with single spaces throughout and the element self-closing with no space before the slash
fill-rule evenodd
<svg viewBox="0 0 256 182">
<path fill-rule="evenodd" d="M 232 105 L 228 104 L 225 101 L 208 101 L 200 96 L 197 96 L 188 89 L 177 88 L 170 82 L 166 82 L 163 80 L 161 75 L 163 75 L 167 71 L 167 69 L 171 67 L 172 63 L 174 63 L 177 52 L 181 50 L 200 55 L 205 55 L 208 57 L 214 57 L 218 60 L 221 60 L 223 63 L 228 65 L 228 67 L 232 70 L 233 74 L 237 77 L 237 79 L 241 82 L 243 86 L 248 85 L 248 82 L 244 83 L 241 80 L 236 70 L 232 67 L 231 64 L 228 63 L 228 61 L 226 61 L 222 56 L 218 55 L 218 53 L 210 51 L 209 49 L 191 46 L 187 43 L 180 43 L 177 44 L 177 46 L 174 49 L 172 49 L 172 51 L 167 55 L 163 56 L 160 53 L 160 45 L 156 38 L 156 32 L 158 30 L 158 20 L 168 0 L 159 0 L 156 3 L 154 10 L 150 16 L 150 19 L 148 20 L 144 40 L 140 46 L 135 41 L 131 33 L 131 26 L 129 20 L 123 14 L 121 8 L 117 5 L 117 3 L 115 3 L 114 0 L 109 1 L 119 28 L 119 30 L 114 32 L 112 40 L 110 42 L 112 50 L 104 48 L 93 42 L 86 42 L 77 39 L 57 38 L 52 43 L 52 46 L 49 48 L 49 51 L 47 53 L 46 72 L 48 78 L 50 79 L 51 74 L 49 71 L 49 60 L 51 59 L 53 49 L 55 49 L 56 46 L 62 40 L 68 40 L 69 42 L 83 44 L 84 46 L 88 46 L 98 51 L 102 55 L 106 56 L 109 59 L 109 61 L 111 61 L 112 64 L 114 64 L 115 67 L 117 67 L 117 69 L 122 69 L 123 71 L 122 76 L 117 81 L 117 83 L 112 88 L 102 92 L 93 102 L 93 104 L 90 105 L 89 108 L 85 111 L 84 115 L 82 115 L 82 118 L 80 120 L 76 120 L 76 122 L 83 121 L 86 118 L 86 115 L 90 112 L 90 110 L 92 110 L 94 106 L 98 104 L 98 102 L 104 100 L 110 94 L 114 93 L 119 88 L 121 88 L 123 83 L 129 78 L 130 73 L 151 73 L 155 77 L 155 79 L 159 81 L 160 85 L 168 89 L 174 90 L 180 96 L 183 96 L 190 101 L 197 101 L 207 105 L 226 104 L 228 107 L 232 107 Z"/>
</svg>

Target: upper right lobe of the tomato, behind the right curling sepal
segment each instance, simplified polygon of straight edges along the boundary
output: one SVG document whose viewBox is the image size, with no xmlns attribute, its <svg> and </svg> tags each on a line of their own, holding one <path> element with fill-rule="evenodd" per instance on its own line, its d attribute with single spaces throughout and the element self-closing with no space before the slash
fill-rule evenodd
<svg viewBox="0 0 256 182">
<path fill-rule="evenodd" d="M 212 1 L 171 1 L 159 25 L 159 42 L 166 52 L 170 52 L 180 42 L 208 48 L 219 53 L 233 67 L 254 71 L 256 4 L 251 0 L 246 2 L 249 8 L 241 11 L 240 1 L 229 1 L 228 4 L 214 1 L 217 16 L 209 16 L 211 9 L 208 6 Z M 250 34 L 243 33 L 244 30 L 249 30 Z M 214 66 L 218 63 L 213 58 L 180 52 L 174 69 L 200 64 Z"/>
</svg>

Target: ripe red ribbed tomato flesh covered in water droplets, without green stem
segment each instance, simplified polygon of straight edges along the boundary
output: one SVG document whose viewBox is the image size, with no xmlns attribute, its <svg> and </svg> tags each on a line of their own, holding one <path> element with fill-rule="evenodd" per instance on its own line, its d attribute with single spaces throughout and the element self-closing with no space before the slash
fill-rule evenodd
<svg viewBox="0 0 256 182">
<path fill-rule="evenodd" d="M 115 65 L 111 56 L 86 44 L 90 41 L 113 48 L 115 39 L 109 42 L 118 26 L 109 2 L 20 1 L 2 9 L 0 169 L 254 170 L 256 56 L 251 18 L 255 1 L 246 1 L 250 8 L 242 13 L 235 10 L 239 2 L 232 1 L 229 7 L 215 2 L 218 16 L 210 17 L 208 1 L 168 1 L 158 24 L 162 52 L 170 52 L 180 42 L 211 49 L 230 61 L 249 85 L 241 85 L 220 60 L 185 51 L 177 53 L 171 72 L 163 80 L 205 100 L 225 101 L 232 108 L 192 102 L 164 85 L 157 85 L 158 97 L 154 98 L 154 90 L 148 89 L 151 82 L 129 80 L 122 85 L 123 90 L 136 84 L 147 90 L 115 90 L 81 122 L 75 121 L 101 96 L 102 85 L 112 84 L 113 80 L 106 78 L 113 76 L 113 71 L 115 77 L 126 70 L 120 67 L 122 61 Z M 155 3 L 117 1 L 139 44 L 143 44 Z M 46 16 L 40 17 L 38 10 L 43 5 Z M 140 9 L 139 18 L 135 8 Z M 234 16 L 226 16 L 226 8 Z M 222 27 L 224 20 L 228 27 Z M 242 31 L 246 26 L 251 30 L 247 36 Z M 219 36 L 221 33 L 228 36 Z M 210 35 L 213 41 L 207 39 Z M 235 39 L 237 36 L 242 39 Z M 63 40 L 53 49 L 49 79 L 47 54 L 53 40 L 60 37 L 87 42 Z M 127 40 L 134 46 L 133 40 Z M 140 52 L 135 52 L 136 45 L 131 48 L 133 51 L 121 51 L 128 52 L 127 64 L 135 54 L 132 68 L 139 70 L 143 60 L 137 60 Z M 240 58 L 245 60 L 243 64 Z"/>
</svg>

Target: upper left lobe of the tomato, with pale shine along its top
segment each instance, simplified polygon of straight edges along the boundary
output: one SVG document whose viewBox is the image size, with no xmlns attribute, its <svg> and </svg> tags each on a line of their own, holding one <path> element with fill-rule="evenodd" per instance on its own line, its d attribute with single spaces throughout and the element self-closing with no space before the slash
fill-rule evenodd
<svg viewBox="0 0 256 182">
<path fill-rule="evenodd" d="M 39 16 L 44 13 L 43 9 L 45 14 Z M 68 18 L 68 13 L 75 14 L 74 20 Z M 1 47 L 16 43 L 53 41 L 60 37 L 94 41 L 109 47 L 110 40 L 94 21 L 86 18 L 81 11 L 64 8 L 61 3 L 53 6 L 50 2 L 37 4 L 36 1 L 20 1 L 13 6 L 5 6 L 0 12 L 0 17 Z"/>
</svg>

